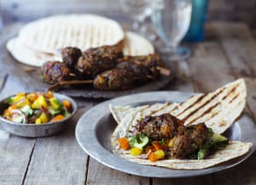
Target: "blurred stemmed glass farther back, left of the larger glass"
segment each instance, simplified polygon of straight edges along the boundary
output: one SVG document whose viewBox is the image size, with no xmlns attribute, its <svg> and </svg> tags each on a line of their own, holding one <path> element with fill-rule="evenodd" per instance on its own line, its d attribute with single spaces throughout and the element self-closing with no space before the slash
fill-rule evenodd
<svg viewBox="0 0 256 185">
<path fill-rule="evenodd" d="M 156 35 L 149 33 L 145 26 L 145 19 L 151 14 L 151 0 L 119 0 L 121 8 L 128 14 L 132 20 L 132 28 L 150 40 L 154 40 Z"/>
</svg>

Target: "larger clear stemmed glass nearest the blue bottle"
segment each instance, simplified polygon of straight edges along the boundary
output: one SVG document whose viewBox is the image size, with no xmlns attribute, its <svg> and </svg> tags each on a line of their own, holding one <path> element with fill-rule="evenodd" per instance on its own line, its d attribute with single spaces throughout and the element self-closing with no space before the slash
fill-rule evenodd
<svg viewBox="0 0 256 185">
<path fill-rule="evenodd" d="M 159 37 L 166 43 L 161 49 L 168 54 L 170 61 L 183 60 L 191 52 L 179 43 L 189 29 L 191 19 L 191 0 L 154 0 L 152 1 L 151 20 Z"/>
</svg>

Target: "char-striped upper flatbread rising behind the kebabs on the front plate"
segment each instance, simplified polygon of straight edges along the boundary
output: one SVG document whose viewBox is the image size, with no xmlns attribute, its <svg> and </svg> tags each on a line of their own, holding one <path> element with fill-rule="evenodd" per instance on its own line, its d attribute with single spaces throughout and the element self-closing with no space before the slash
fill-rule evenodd
<svg viewBox="0 0 256 185">
<path fill-rule="evenodd" d="M 131 123 L 136 124 L 137 119 L 146 115 L 157 116 L 162 113 L 171 113 L 177 119 L 183 119 L 185 125 L 204 122 L 215 133 L 222 134 L 240 116 L 245 107 L 246 96 L 246 84 L 243 79 L 238 79 L 211 93 L 194 95 L 179 104 L 152 104 L 143 107 L 110 105 L 110 111 L 118 124 L 122 122 L 122 118 L 132 119 Z"/>
</svg>

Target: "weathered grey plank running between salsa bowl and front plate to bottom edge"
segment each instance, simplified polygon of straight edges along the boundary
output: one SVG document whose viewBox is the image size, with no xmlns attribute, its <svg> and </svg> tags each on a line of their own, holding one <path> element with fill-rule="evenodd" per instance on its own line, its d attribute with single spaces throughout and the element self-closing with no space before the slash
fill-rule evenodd
<svg viewBox="0 0 256 185">
<path fill-rule="evenodd" d="M 75 123 L 84 109 L 79 109 L 63 133 L 38 138 L 26 174 L 26 185 L 82 185 L 87 171 L 87 155 L 74 136 Z"/>
</svg>

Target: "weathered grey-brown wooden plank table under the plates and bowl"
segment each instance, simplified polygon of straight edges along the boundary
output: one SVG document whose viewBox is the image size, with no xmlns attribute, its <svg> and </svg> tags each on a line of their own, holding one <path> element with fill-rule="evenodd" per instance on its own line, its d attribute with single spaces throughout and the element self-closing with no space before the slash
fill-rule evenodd
<svg viewBox="0 0 256 185">
<path fill-rule="evenodd" d="M 3 45 L 17 32 L 17 25 L 3 29 Z M 201 43 L 189 43 L 193 55 L 177 64 L 176 77 L 162 90 L 208 92 L 236 78 L 247 83 L 245 112 L 256 118 L 256 42 L 252 32 L 240 23 L 212 22 L 207 24 L 207 37 Z M 21 65 L 22 66 L 22 65 Z M 0 62 L 0 97 L 24 90 L 33 90 L 26 84 L 29 72 L 20 70 L 17 78 L 15 66 Z M 22 67 L 21 67 L 22 69 Z M 79 147 L 74 136 L 79 117 L 103 99 L 78 98 L 79 111 L 69 128 L 55 136 L 24 138 L 0 131 L 0 184 L 30 185 L 228 185 L 256 183 L 256 155 L 229 170 L 207 176 L 179 179 L 148 178 L 114 171 L 90 158 Z"/>
</svg>

